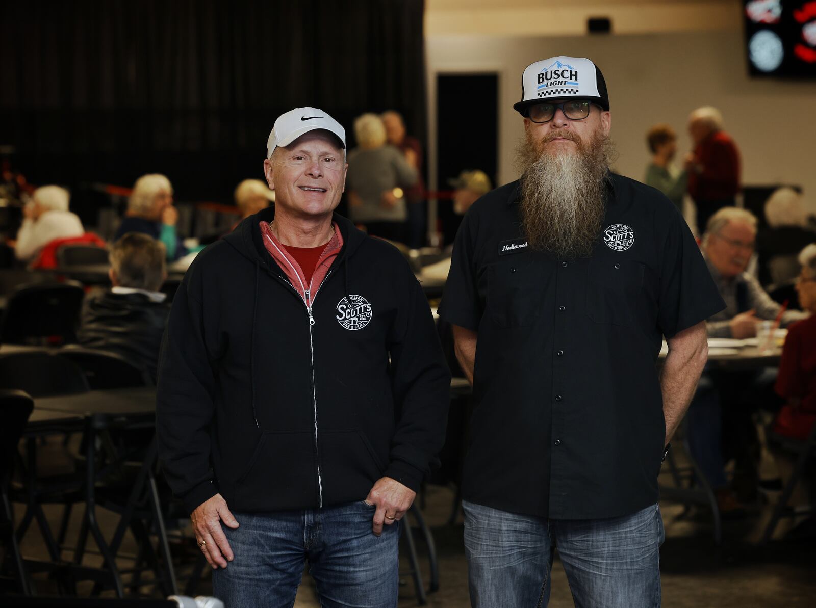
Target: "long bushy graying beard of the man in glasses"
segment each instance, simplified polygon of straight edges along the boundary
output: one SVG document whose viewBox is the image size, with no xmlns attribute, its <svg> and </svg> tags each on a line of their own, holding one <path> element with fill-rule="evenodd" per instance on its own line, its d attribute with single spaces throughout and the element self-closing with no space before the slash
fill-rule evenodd
<svg viewBox="0 0 816 608">
<path fill-rule="evenodd" d="M 572 132 L 548 135 L 572 139 L 574 152 L 540 152 L 543 143 L 530 138 L 517 148 L 521 169 L 521 228 L 531 249 L 558 258 L 588 258 L 601 234 L 605 181 L 614 147 L 598 133 L 585 143 Z"/>
</svg>

